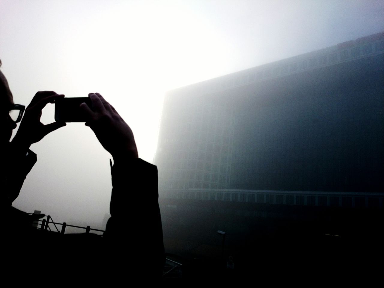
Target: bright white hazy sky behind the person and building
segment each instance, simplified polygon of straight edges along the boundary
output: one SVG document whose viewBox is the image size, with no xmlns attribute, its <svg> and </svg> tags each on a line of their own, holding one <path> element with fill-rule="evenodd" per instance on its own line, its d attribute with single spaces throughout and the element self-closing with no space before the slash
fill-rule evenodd
<svg viewBox="0 0 384 288">
<path fill-rule="evenodd" d="M 0 0 L 0 12 L 1 69 L 15 103 L 41 90 L 99 92 L 148 162 L 167 90 L 384 31 L 384 1 L 369 0 Z M 53 111 L 43 110 L 44 123 Z M 110 156 L 89 127 L 69 123 L 31 149 L 38 162 L 14 206 L 101 222 Z"/>
</svg>

